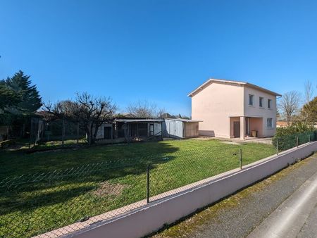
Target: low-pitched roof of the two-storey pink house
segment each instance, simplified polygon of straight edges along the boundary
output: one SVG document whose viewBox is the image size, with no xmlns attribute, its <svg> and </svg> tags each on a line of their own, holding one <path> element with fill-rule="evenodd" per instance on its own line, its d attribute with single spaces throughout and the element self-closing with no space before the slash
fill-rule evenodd
<svg viewBox="0 0 317 238">
<path fill-rule="evenodd" d="M 194 96 L 195 94 L 201 92 L 202 89 L 206 88 L 207 86 L 209 86 L 212 83 L 245 85 L 247 87 L 251 87 L 253 89 L 258 89 L 262 92 L 266 92 L 267 94 L 272 94 L 274 96 L 282 96 L 281 94 L 278 94 L 278 93 L 273 92 L 271 90 L 265 89 L 263 87 L 259 87 L 255 84 L 250 84 L 249 82 L 242 82 L 242 81 L 235 81 L 235 80 L 217 80 L 217 79 L 207 80 L 206 82 L 201 84 L 199 87 L 197 87 L 197 89 L 194 89 L 194 91 L 192 91 L 190 94 L 188 94 L 188 96 Z"/>
</svg>

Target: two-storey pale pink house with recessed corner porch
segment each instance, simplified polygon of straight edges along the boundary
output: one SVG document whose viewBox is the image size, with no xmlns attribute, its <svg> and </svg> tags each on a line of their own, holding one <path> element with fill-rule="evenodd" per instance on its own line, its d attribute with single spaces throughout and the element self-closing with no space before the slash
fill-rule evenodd
<svg viewBox="0 0 317 238">
<path fill-rule="evenodd" d="M 272 137 L 276 130 L 276 98 L 268 89 L 232 80 L 210 79 L 188 96 L 199 134 L 211 137 Z"/>
</svg>

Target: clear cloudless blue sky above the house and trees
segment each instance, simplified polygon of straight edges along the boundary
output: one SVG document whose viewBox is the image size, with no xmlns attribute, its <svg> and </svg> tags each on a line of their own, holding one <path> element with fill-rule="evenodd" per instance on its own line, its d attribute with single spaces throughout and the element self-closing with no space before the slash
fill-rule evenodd
<svg viewBox="0 0 317 238">
<path fill-rule="evenodd" d="M 317 1 L 0 0 L 0 79 L 32 75 L 44 101 L 147 99 L 190 115 L 209 77 L 275 92 L 317 82 Z"/>
</svg>

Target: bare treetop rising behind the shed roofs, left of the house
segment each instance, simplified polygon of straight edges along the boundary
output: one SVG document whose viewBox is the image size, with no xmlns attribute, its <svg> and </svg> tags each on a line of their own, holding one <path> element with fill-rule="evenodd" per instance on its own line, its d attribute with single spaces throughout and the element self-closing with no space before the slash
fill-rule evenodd
<svg viewBox="0 0 317 238">
<path fill-rule="evenodd" d="M 147 100 L 130 104 L 127 111 L 135 118 L 160 118 L 163 113 L 166 113 L 163 108 L 158 109 L 156 104 L 149 103 Z"/>
</svg>

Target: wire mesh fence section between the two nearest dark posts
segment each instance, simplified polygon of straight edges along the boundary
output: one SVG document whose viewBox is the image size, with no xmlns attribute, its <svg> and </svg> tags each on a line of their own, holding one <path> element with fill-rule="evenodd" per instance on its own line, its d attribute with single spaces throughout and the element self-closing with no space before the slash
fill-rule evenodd
<svg viewBox="0 0 317 238">
<path fill-rule="evenodd" d="M 177 159 L 175 159 L 177 158 Z M 149 164 L 149 201 L 196 187 L 207 178 L 240 168 L 240 149 L 201 149 L 181 151 Z M 216 176 L 217 177 L 217 176 Z M 213 178 L 216 178 L 213 177 Z"/>
</svg>

